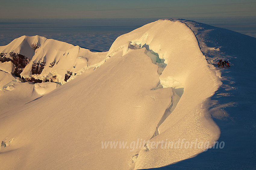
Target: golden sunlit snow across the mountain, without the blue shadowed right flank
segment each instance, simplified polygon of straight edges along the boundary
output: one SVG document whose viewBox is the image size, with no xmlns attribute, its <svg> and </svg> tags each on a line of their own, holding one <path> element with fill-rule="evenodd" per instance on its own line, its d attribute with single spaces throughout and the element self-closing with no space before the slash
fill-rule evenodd
<svg viewBox="0 0 256 170">
<path fill-rule="evenodd" d="M 220 129 L 211 115 L 223 116 L 218 109 L 208 108 L 215 107 L 211 106 L 213 97 L 223 85 L 221 71 L 209 58 L 207 62 L 207 53 L 200 50 L 195 31 L 183 22 L 158 20 L 118 37 L 108 52 L 83 53 L 87 64 L 94 61 L 89 64 L 91 67 L 86 65 L 83 69 L 86 62 L 77 61 L 83 70 L 80 75 L 53 91 L 57 86 L 48 88 L 43 83 L 19 82 L 16 87 L 15 83 L 21 80 L 3 72 L 2 80 L 15 82 L 0 91 L 1 101 L 8 99 L 7 105 L 0 103 L 0 159 L 5 160 L 2 167 L 148 169 L 195 157 L 207 149 L 206 143 L 213 146 L 220 137 Z M 62 43 L 51 46 L 59 48 Z M 42 46 L 41 43 L 41 49 L 36 49 L 40 54 L 37 61 L 43 58 Z M 22 52 L 22 48 L 8 48 L 0 47 L 2 53 Z M 70 55 L 75 58 L 72 62 L 76 61 L 80 47 L 69 48 L 78 50 Z M 62 56 L 68 53 L 67 48 L 63 51 Z M 51 48 L 48 52 L 52 53 Z M 32 53 L 21 55 L 35 57 Z M 62 68 L 59 62 L 58 67 L 67 71 L 70 61 L 62 60 L 67 64 Z M 46 58 L 46 65 L 52 61 L 53 58 Z M 28 75 L 26 67 L 21 76 Z M 8 65 L 4 68 L 10 70 Z M 175 91 L 180 89 L 184 91 L 178 96 Z M 28 97 L 19 96 L 22 93 Z M 13 98 L 20 107 L 8 109 L 8 105 L 16 104 L 10 104 Z M 24 98 L 30 101 L 21 101 Z M 167 111 L 172 112 L 165 118 Z M 177 146 L 178 141 L 183 146 Z M 195 141 L 201 145 L 193 144 Z M 108 147 L 103 146 L 104 142 L 110 142 Z M 121 142 L 127 145 L 121 146 Z M 186 143 L 191 147 L 186 147 Z"/>
</svg>

